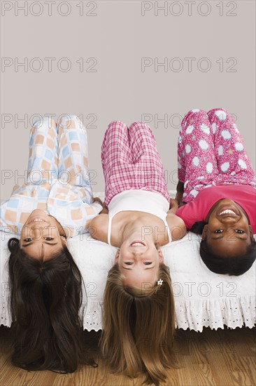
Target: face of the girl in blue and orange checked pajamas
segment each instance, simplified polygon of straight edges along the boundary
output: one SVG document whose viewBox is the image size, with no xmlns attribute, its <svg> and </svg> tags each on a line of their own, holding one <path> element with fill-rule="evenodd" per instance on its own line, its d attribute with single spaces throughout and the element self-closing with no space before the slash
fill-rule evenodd
<svg viewBox="0 0 256 386">
<path fill-rule="evenodd" d="M 41 209 L 36 209 L 24 223 L 20 237 L 20 248 L 31 258 L 49 260 L 62 249 L 66 239 L 59 222 Z"/>
</svg>

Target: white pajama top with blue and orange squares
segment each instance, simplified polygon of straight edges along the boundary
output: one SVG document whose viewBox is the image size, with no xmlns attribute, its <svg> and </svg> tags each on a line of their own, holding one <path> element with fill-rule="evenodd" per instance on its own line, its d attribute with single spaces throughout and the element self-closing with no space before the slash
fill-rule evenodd
<svg viewBox="0 0 256 386">
<path fill-rule="evenodd" d="M 50 183 L 51 182 L 51 183 Z M 24 222 L 35 209 L 42 209 L 62 225 L 66 237 L 87 231 L 87 220 L 102 210 L 99 202 L 85 203 L 85 189 L 73 185 L 45 180 L 41 185 L 24 184 L 14 190 L 8 201 L 1 204 L 0 229 L 20 235 Z"/>
</svg>

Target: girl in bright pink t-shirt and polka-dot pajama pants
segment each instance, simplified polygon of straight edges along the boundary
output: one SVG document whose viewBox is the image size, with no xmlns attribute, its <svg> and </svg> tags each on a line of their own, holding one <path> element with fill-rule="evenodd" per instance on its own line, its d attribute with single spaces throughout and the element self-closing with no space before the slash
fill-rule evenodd
<svg viewBox="0 0 256 386">
<path fill-rule="evenodd" d="M 194 109 L 178 139 L 176 214 L 201 233 L 211 271 L 239 275 L 255 261 L 256 180 L 243 138 L 225 109 Z"/>
</svg>

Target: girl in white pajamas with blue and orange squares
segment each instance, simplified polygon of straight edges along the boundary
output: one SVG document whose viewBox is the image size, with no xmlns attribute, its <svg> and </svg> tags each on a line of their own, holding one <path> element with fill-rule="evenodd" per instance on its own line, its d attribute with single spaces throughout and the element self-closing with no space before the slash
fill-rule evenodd
<svg viewBox="0 0 256 386">
<path fill-rule="evenodd" d="M 66 239 L 101 211 L 88 173 L 80 119 L 43 119 L 31 128 L 27 181 L 1 205 L 1 230 L 16 235 L 8 241 L 12 361 L 26 370 L 73 372 L 81 359 L 83 279 Z"/>
</svg>

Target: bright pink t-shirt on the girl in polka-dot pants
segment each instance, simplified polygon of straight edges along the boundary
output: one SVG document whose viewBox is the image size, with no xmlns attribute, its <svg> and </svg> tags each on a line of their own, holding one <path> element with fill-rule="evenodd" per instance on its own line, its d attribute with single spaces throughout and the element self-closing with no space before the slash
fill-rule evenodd
<svg viewBox="0 0 256 386">
<path fill-rule="evenodd" d="M 250 185 L 216 185 L 201 190 L 194 201 L 178 208 L 176 215 L 183 219 L 188 230 L 194 222 L 205 221 L 208 212 L 220 199 L 232 199 L 239 204 L 249 218 L 253 234 L 256 234 L 256 189 Z"/>
</svg>

